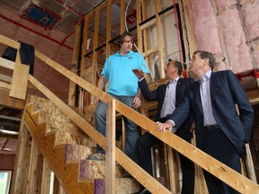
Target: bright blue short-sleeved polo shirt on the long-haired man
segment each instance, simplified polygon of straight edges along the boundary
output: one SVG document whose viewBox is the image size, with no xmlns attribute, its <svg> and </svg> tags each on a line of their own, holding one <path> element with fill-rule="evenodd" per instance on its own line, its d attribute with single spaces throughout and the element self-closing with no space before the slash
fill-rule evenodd
<svg viewBox="0 0 259 194">
<path fill-rule="evenodd" d="M 138 93 L 138 77 L 132 69 L 141 69 L 149 74 L 145 59 L 132 50 L 125 56 L 120 51 L 107 58 L 101 75 L 104 75 L 108 84 L 108 93 L 119 96 L 135 96 Z"/>
</svg>

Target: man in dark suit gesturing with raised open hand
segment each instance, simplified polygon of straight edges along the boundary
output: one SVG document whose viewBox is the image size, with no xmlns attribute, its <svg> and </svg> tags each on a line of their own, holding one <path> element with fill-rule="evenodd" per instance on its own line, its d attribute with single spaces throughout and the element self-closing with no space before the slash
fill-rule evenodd
<svg viewBox="0 0 259 194">
<path fill-rule="evenodd" d="M 181 78 L 183 65 L 172 59 L 169 59 L 165 65 L 165 76 L 169 79 L 167 84 L 159 85 L 154 91 L 150 91 L 142 72 L 134 69 L 133 72 L 138 76 L 138 85 L 141 93 L 146 101 L 157 101 L 156 121 L 165 122 L 168 115 L 171 115 L 175 108 L 181 103 L 185 89 L 194 83 L 192 78 Z M 181 130 L 177 131 L 177 135 L 191 143 L 192 117 L 184 122 Z M 145 133 L 138 138 L 138 164 L 149 174 L 152 175 L 151 147 L 161 141 L 150 133 Z M 193 193 L 194 190 L 194 164 L 188 158 L 179 154 L 182 172 L 183 187 L 182 193 Z M 138 193 L 150 193 L 145 188 Z"/>
</svg>

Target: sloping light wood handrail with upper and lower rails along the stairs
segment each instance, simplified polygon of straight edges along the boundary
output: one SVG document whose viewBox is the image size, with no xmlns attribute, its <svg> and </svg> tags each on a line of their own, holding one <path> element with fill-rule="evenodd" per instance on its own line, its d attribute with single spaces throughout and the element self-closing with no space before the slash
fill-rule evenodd
<svg viewBox="0 0 259 194">
<path fill-rule="evenodd" d="M 4 40 L 2 40 L 4 39 Z M 4 36 L 0 35 L 0 42 L 6 43 L 7 45 L 12 44 L 14 40 L 9 40 L 4 38 Z M 14 41 L 15 42 L 15 41 Z M 13 43 L 14 44 L 14 43 Z M 11 45 L 9 45 L 11 46 Z M 11 46 L 12 47 L 12 46 Z M 15 47 L 15 45 L 13 46 Z M 102 90 L 95 87 L 93 84 L 88 83 L 80 76 L 72 73 L 67 70 L 64 66 L 59 65 L 54 60 L 46 57 L 38 50 L 35 50 L 36 57 L 39 57 L 40 60 L 44 61 L 49 66 L 56 69 L 60 74 L 65 75 L 69 80 L 78 84 L 82 88 L 84 88 L 87 92 L 98 96 L 101 101 L 107 102 L 112 100 L 112 96 L 104 93 Z M 90 124 L 88 124 L 84 119 L 82 119 L 79 115 L 76 114 L 73 110 L 71 110 L 67 104 L 58 99 L 54 93 L 51 93 L 44 85 L 40 84 L 32 75 L 29 75 L 29 81 L 31 84 L 34 84 L 41 93 L 44 93 L 50 101 L 53 101 L 60 110 L 62 110 L 67 116 L 72 119 L 78 127 L 82 128 L 85 133 L 94 139 L 94 141 L 101 145 L 104 149 L 106 148 L 105 138 L 101 136 L 95 128 L 93 128 Z M 199 164 L 204 170 L 210 172 L 211 174 L 218 177 L 221 181 L 226 182 L 229 186 L 234 188 L 235 190 L 241 193 L 258 193 L 259 185 L 255 182 L 247 179 L 242 174 L 232 170 L 224 163 L 220 163 L 218 160 L 211 157 L 209 154 L 202 152 L 197 147 L 187 143 L 182 138 L 175 136 L 174 134 L 166 131 L 165 134 L 161 134 L 156 129 L 156 123 L 151 119 L 147 119 L 140 113 L 135 110 L 130 109 L 125 104 L 121 103 L 121 101 L 116 101 L 116 110 L 121 112 L 121 114 L 130 120 L 134 121 L 141 128 L 148 129 L 149 133 L 159 138 L 161 141 L 165 142 L 165 144 L 170 145 L 179 153 L 185 155 L 189 159 L 191 159 L 194 163 Z M 80 119 L 81 118 L 81 119 Z M 138 164 L 132 162 L 129 157 L 121 152 L 119 148 L 116 147 L 116 161 L 121 164 L 121 166 L 126 169 L 133 177 L 138 180 L 142 185 L 144 185 L 147 190 L 151 192 L 163 192 L 170 193 L 169 190 L 165 189 L 163 185 L 157 182 L 152 176 L 150 176 L 147 172 L 141 169 Z"/>
</svg>

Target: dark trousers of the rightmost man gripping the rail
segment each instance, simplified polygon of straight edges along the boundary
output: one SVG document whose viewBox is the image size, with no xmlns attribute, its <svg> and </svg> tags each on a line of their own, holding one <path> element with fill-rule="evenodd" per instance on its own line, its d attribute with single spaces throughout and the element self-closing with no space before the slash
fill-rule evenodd
<svg viewBox="0 0 259 194">
<path fill-rule="evenodd" d="M 204 131 L 203 151 L 210 154 L 221 163 L 225 163 L 228 167 L 237 172 L 241 172 L 240 155 L 225 136 L 223 131 L 218 129 L 208 129 Z M 203 170 L 203 174 L 208 186 L 210 194 L 236 194 L 236 190 L 229 187 L 223 181 L 220 181 L 210 172 Z"/>
</svg>

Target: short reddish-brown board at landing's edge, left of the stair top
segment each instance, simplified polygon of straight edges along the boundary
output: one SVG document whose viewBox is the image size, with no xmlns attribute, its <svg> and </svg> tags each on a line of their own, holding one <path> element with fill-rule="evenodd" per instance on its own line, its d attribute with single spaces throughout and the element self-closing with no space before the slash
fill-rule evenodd
<svg viewBox="0 0 259 194">
<path fill-rule="evenodd" d="M 25 101 L 9 96 L 9 91 L 0 89 L 0 105 L 15 110 L 24 110 Z"/>
</svg>

